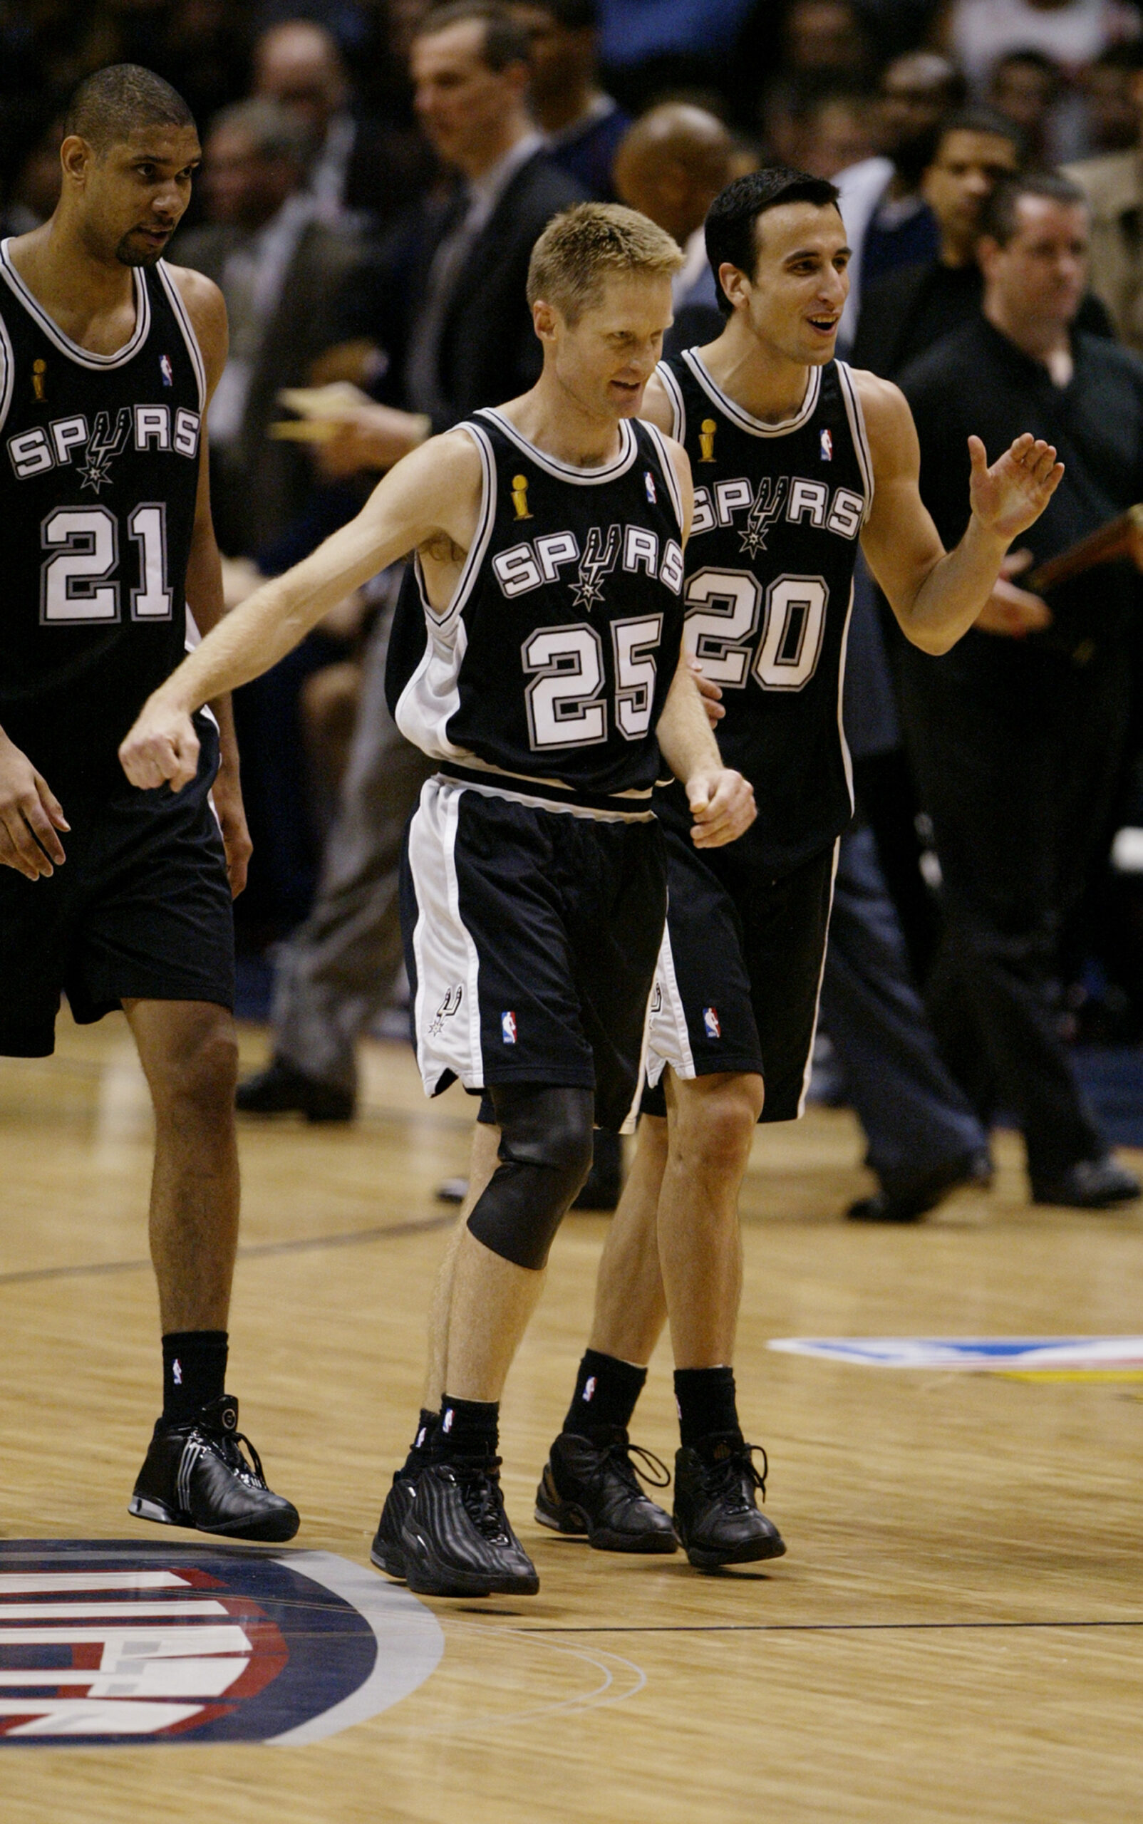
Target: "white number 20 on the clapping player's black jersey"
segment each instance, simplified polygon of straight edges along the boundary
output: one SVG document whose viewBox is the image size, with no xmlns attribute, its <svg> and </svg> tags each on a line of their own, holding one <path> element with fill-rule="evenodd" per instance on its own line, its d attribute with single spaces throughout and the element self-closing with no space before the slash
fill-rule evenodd
<svg viewBox="0 0 1143 1824">
<path fill-rule="evenodd" d="M 829 587 L 824 576 L 775 576 L 751 666 L 762 584 L 753 571 L 702 569 L 687 578 L 685 649 L 724 689 L 753 673 L 762 689 L 804 689 L 817 671 Z"/>
</svg>

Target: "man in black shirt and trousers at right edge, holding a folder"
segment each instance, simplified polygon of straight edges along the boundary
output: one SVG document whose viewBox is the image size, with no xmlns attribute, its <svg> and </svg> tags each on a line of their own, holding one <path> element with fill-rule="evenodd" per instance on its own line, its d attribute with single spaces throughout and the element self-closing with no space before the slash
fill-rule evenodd
<svg viewBox="0 0 1143 1824">
<path fill-rule="evenodd" d="M 979 244 L 983 310 L 901 376 L 921 494 L 946 547 L 964 529 L 970 432 L 986 449 L 1030 432 L 1065 461 L 1025 534 L 1032 562 L 1143 492 L 1143 365 L 1076 328 L 1086 241 L 1076 184 L 1001 182 Z M 1001 580 L 955 651 L 901 668 L 906 741 L 942 877 L 944 936 L 930 976 L 937 1032 L 977 1109 L 1019 1122 L 1034 1200 L 1081 1209 L 1139 1195 L 1108 1155 L 1054 1009 L 1061 930 L 1123 764 L 1138 596 L 1125 562 L 1061 586 L 1050 607 Z"/>
</svg>

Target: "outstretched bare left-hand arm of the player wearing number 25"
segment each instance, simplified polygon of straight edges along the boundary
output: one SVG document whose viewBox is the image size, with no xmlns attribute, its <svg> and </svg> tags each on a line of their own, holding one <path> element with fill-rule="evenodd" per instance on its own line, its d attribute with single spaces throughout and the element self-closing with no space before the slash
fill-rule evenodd
<svg viewBox="0 0 1143 1824">
<path fill-rule="evenodd" d="M 355 520 L 283 576 L 255 589 L 221 620 L 157 689 L 118 755 L 131 784 L 175 792 L 195 777 L 199 739 L 191 713 L 248 684 L 293 651 L 350 589 L 417 549 L 434 606 L 476 533 L 481 463 L 463 430 L 421 445 L 377 483 Z"/>
</svg>

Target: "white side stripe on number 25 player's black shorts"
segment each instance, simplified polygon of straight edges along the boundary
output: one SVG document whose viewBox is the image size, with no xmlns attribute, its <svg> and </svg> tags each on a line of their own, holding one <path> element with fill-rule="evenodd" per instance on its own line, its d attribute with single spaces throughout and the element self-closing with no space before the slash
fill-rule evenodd
<svg viewBox="0 0 1143 1824">
<path fill-rule="evenodd" d="M 412 950 L 417 965 L 414 1031 L 428 1096 L 445 1071 L 483 1089 L 479 958 L 465 930 L 456 879 L 456 828 L 467 786 L 428 779 L 408 826 L 408 866 L 417 896 Z"/>
</svg>

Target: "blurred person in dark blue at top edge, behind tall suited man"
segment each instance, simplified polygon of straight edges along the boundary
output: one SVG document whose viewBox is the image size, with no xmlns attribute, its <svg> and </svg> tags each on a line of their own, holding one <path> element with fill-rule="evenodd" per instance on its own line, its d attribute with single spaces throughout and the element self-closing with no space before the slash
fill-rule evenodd
<svg viewBox="0 0 1143 1824">
<path fill-rule="evenodd" d="M 614 202 L 613 166 L 631 126 L 598 84 L 596 0 L 509 0 L 532 47 L 529 102 L 547 150 L 589 197 Z"/>
</svg>

